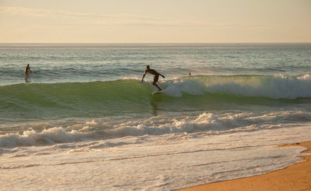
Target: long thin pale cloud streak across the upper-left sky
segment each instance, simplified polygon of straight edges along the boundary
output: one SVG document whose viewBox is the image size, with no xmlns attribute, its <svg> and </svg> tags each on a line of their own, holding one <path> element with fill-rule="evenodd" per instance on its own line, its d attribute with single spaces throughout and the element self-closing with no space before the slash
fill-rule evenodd
<svg viewBox="0 0 311 191">
<path fill-rule="evenodd" d="M 71 23 L 49 23 L 49 25 L 95 25 L 95 26 L 206 26 L 206 27 L 285 27 L 269 25 L 212 24 L 198 20 L 170 20 L 160 17 L 135 14 L 101 15 L 68 12 L 54 9 L 30 9 L 25 7 L 0 7 L 0 14 L 34 17 L 71 18 Z M 45 24 L 46 25 L 46 24 Z"/>
</svg>

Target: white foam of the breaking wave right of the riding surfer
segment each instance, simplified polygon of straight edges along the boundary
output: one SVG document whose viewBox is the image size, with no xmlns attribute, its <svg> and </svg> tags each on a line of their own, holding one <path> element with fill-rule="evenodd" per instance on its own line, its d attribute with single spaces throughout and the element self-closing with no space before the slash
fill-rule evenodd
<svg viewBox="0 0 311 191">
<path fill-rule="evenodd" d="M 138 79 L 137 79 L 138 80 Z M 151 81 L 145 82 L 151 85 Z M 311 77 L 271 76 L 197 76 L 159 81 L 165 94 L 180 97 L 183 93 L 225 93 L 235 96 L 296 99 L 311 97 Z"/>
</svg>

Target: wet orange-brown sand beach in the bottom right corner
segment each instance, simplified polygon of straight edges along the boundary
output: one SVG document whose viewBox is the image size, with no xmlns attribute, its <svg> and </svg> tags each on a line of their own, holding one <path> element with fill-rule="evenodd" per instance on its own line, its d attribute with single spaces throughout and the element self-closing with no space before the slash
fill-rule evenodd
<svg viewBox="0 0 311 191">
<path fill-rule="evenodd" d="M 307 147 L 302 153 L 311 153 L 311 141 L 279 145 L 278 147 Z M 311 189 L 311 155 L 300 156 L 302 162 L 273 170 L 261 175 L 249 176 L 208 184 L 201 184 L 180 191 L 195 190 L 308 190 Z"/>
</svg>

